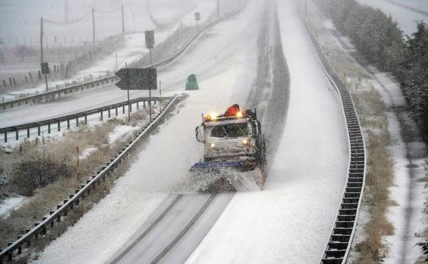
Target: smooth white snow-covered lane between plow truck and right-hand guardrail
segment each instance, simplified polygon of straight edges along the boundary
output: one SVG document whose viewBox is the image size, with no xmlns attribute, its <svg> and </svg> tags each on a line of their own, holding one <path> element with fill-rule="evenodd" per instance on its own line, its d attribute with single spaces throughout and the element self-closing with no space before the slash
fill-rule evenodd
<svg viewBox="0 0 428 264">
<path fill-rule="evenodd" d="M 347 136 L 339 97 L 291 1 L 278 1 L 278 14 L 291 94 L 264 191 L 236 193 L 186 264 L 319 263 L 324 253 L 346 180 Z"/>
</svg>

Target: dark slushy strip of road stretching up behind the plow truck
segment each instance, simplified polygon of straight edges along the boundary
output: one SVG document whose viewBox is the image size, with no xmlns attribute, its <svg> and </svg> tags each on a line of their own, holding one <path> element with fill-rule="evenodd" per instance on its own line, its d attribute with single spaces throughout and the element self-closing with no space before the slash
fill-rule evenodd
<svg viewBox="0 0 428 264">
<path fill-rule="evenodd" d="M 268 160 L 273 160 L 285 128 L 289 108 L 289 69 L 282 49 L 276 2 L 269 1 L 258 40 L 258 72 L 252 93 L 247 99 L 256 108 L 269 141 Z M 268 164 L 269 170 L 269 164 Z"/>
</svg>

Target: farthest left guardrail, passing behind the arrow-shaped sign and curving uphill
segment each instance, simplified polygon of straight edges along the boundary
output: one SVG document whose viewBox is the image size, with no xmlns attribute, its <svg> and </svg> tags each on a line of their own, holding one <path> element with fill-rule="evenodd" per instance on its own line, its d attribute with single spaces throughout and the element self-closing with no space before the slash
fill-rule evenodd
<svg viewBox="0 0 428 264">
<path fill-rule="evenodd" d="M 206 29 L 209 29 L 210 27 L 212 27 L 216 23 L 223 21 L 223 20 L 229 18 L 230 16 L 233 16 L 234 14 L 236 14 L 238 12 L 239 12 L 239 10 L 235 11 L 235 12 L 231 12 L 231 13 L 227 14 L 227 16 L 225 16 L 221 19 L 217 19 L 215 21 L 212 21 L 211 23 L 208 23 L 207 25 L 205 25 L 201 29 L 199 29 L 199 31 L 196 32 L 194 34 L 194 36 L 192 36 L 192 38 L 190 38 L 190 40 L 188 40 L 187 43 L 185 43 L 183 46 L 181 46 L 181 48 L 178 51 L 176 51 L 174 54 L 172 54 L 172 56 L 170 56 L 170 57 L 168 57 L 165 60 L 162 60 L 160 62 L 156 62 L 154 64 L 148 65 L 146 67 L 155 67 L 155 68 L 164 67 L 166 64 L 169 64 L 173 60 L 177 59 L 190 46 L 190 44 L 192 44 L 194 42 L 194 40 L 196 40 L 196 38 L 198 38 Z M 36 95 L 30 95 L 30 96 L 23 97 L 23 98 L 18 98 L 18 99 L 13 99 L 10 101 L 0 102 L 0 108 L 3 108 L 3 110 L 5 110 L 6 106 L 10 106 L 10 108 L 13 108 L 16 105 L 21 106 L 21 104 L 28 104 L 29 102 L 34 103 L 36 101 L 42 101 L 42 100 L 50 99 L 50 98 L 55 99 L 56 97 L 60 97 L 61 94 L 66 95 L 67 93 L 72 93 L 73 91 L 82 91 L 85 88 L 93 88 L 95 86 L 99 86 L 102 84 L 108 84 L 109 82 L 114 82 L 117 80 L 119 80 L 119 78 L 116 77 L 116 75 L 111 75 L 111 76 L 103 77 L 99 80 L 84 82 L 82 84 L 76 84 L 76 85 L 68 86 L 65 88 L 56 89 L 53 91 L 47 91 L 45 93 L 38 93 Z"/>
</svg>

